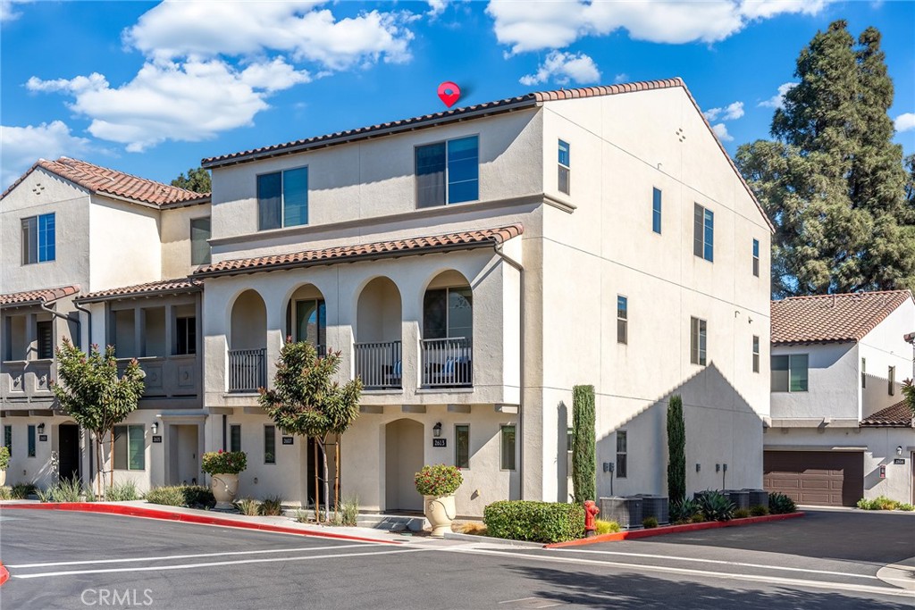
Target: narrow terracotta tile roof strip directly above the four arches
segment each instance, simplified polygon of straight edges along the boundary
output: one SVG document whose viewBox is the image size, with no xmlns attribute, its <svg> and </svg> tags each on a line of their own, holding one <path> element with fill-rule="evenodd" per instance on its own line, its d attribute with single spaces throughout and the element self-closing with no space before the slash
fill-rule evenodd
<svg viewBox="0 0 915 610">
<path fill-rule="evenodd" d="M 356 246 L 337 246 L 320 250 L 305 250 L 288 254 L 274 254 L 249 259 L 213 262 L 201 267 L 194 275 L 235 275 L 310 267 L 313 265 L 352 262 L 360 259 L 409 256 L 430 251 L 457 251 L 487 247 L 518 237 L 524 232 L 522 225 L 514 224 L 501 229 L 468 230 L 431 237 L 416 237 L 396 241 L 375 241 Z"/>
</svg>

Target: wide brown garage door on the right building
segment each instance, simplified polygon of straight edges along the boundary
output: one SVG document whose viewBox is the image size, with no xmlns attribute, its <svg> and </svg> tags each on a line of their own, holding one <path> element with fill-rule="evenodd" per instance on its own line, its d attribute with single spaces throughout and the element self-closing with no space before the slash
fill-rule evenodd
<svg viewBox="0 0 915 610">
<path fill-rule="evenodd" d="M 853 507 L 864 497 L 864 454 L 855 451 L 767 451 L 763 486 L 798 504 Z"/>
</svg>

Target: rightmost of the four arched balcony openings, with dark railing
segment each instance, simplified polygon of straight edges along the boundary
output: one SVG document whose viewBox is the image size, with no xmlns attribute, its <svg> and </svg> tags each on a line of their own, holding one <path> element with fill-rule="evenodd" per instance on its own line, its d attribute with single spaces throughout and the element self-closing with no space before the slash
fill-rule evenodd
<svg viewBox="0 0 915 610">
<path fill-rule="evenodd" d="M 457 271 L 439 273 L 423 296 L 422 385 L 473 385 L 473 291 Z"/>
</svg>

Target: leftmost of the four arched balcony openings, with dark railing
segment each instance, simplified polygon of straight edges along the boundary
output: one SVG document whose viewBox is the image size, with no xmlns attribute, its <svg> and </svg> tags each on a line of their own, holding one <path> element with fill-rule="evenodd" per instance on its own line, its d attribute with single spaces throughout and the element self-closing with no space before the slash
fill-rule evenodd
<svg viewBox="0 0 915 610">
<path fill-rule="evenodd" d="M 267 385 L 267 308 L 246 290 L 231 307 L 229 391 L 255 392 Z"/>
</svg>

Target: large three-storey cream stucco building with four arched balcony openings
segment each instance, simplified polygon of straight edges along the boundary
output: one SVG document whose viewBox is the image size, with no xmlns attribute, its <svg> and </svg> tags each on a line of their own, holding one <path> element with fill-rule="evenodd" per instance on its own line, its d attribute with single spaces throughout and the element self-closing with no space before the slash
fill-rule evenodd
<svg viewBox="0 0 915 610">
<path fill-rule="evenodd" d="M 312 444 L 264 415 L 284 337 L 365 384 L 341 485 L 458 513 L 565 501 L 572 388 L 597 391 L 598 494 L 666 493 L 684 398 L 691 491 L 760 487 L 771 224 L 682 80 L 531 93 L 205 159 L 208 450 L 242 496 L 311 502 Z M 215 417 L 212 417 L 214 416 Z M 331 466 L 332 467 L 332 466 Z M 611 469 L 612 467 L 612 469 Z"/>
</svg>

